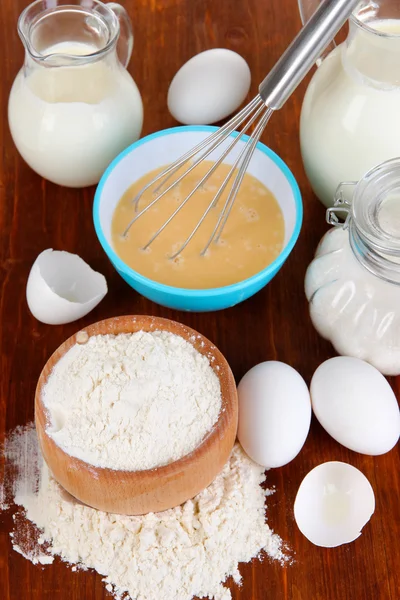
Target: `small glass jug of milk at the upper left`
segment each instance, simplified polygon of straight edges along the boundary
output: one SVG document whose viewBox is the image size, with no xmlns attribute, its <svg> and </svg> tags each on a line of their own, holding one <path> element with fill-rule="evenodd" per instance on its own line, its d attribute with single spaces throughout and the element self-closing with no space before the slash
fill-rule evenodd
<svg viewBox="0 0 400 600">
<path fill-rule="evenodd" d="M 97 0 L 38 0 L 21 14 L 18 32 L 25 62 L 8 105 L 17 149 L 54 183 L 97 183 L 142 130 L 142 100 L 126 70 L 128 14 Z"/>
</svg>

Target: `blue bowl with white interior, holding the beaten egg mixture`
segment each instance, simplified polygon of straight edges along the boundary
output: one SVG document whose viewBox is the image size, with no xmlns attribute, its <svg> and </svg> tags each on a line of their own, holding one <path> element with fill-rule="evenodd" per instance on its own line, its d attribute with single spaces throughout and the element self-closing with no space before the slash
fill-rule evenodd
<svg viewBox="0 0 400 600">
<path fill-rule="evenodd" d="M 253 296 L 276 275 L 293 250 L 300 233 L 303 205 L 296 180 L 272 150 L 258 143 L 248 172 L 275 195 L 285 220 L 285 241 L 280 255 L 268 267 L 239 283 L 212 289 L 176 288 L 140 275 L 116 254 L 112 246 L 111 222 L 121 196 L 140 177 L 179 158 L 204 140 L 216 127 L 174 127 L 153 133 L 129 146 L 110 164 L 96 190 L 93 219 L 97 237 L 121 277 L 137 292 L 157 304 L 186 311 L 212 311 L 235 306 Z M 237 136 L 233 133 L 232 137 Z M 233 164 L 247 141 L 243 136 L 226 161 Z M 228 140 L 227 140 L 228 143 Z M 208 158 L 213 160 L 221 149 Z"/>
</svg>

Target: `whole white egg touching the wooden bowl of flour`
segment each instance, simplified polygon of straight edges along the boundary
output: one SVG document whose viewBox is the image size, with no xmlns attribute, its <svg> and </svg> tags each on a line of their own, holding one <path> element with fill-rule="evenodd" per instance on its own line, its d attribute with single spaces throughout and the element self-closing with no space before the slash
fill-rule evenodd
<svg viewBox="0 0 400 600">
<path fill-rule="evenodd" d="M 297 456 L 311 421 L 307 385 L 295 369 L 263 362 L 238 386 L 238 438 L 245 452 L 266 468 L 282 467 Z"/>
</svg>

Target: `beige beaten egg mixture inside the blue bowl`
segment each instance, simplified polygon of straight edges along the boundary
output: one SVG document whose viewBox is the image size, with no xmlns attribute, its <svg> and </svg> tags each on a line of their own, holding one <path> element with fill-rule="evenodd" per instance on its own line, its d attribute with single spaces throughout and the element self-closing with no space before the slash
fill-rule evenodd
<svg viewBox="0 0 400 600">
<path fill-rule="evenodd" d="M 180 288 L 206 289 L 243 281 L 275 260 L 284 243 L 283 214 L 275 196 L 249 173 L 243 178 L 220 239 L 210 245 L 205 255 L 201 255 L 217 223 L 234 176 L 227 186 L 228 190 L 224 191 L 216 207 L 210 210 L 188 246 L 176 258 L 170 258 L 178 251 L 212 202 L 231 169 L 226 164 L 215 170 L 150 247 L 143 250 L 152 235 L 182 204 L 212 165 L 211 161 L 204 161 L 193 169 L 142 215 L 123 237 L 128 223 L 137 214 L 134 198 L 165 167 L 147 173 L 125 192 L 112 221 L 112 243 L 124 263 L 159 283 Z M 179 175 L 180 173 L 175 174 L 174 179 Z M 164 189 L 172 181 L 171 178 Z M 154 200 L 156 186 L 143 194 L 139 211 Z"/>
</svg>

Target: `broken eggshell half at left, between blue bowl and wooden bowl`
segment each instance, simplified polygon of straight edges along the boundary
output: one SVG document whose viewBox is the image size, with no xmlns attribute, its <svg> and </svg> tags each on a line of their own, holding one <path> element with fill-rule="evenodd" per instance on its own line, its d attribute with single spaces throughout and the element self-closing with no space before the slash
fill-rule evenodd
<svg viewBox="0 0 400 600">
<path fill-rule="evenodd" d="M 71 323 L 104 298 L 107 282 L 76 254 L 44 250 L 32 265 L 26 286 L 29 310 L 48 325 Z"/>
</svg>

